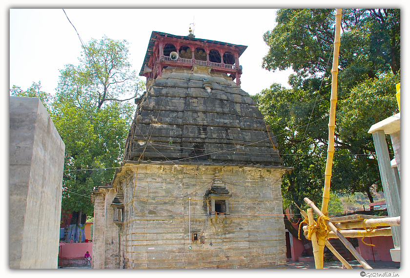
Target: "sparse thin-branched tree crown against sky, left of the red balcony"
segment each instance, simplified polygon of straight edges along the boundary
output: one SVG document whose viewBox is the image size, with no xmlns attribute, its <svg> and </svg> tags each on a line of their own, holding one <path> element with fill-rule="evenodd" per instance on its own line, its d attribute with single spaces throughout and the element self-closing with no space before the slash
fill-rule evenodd
<svg viewBox="0 0 410 278">
<path fill-rule="evenodd" d="M 67 64 L 60 71 L 60 102 L 73 101 L 78 108 L 86 103 L 101 109 L 110 101 L 134 99 L 143 90 L 145 83 L 131 71 L 126 40 L 92 39 L 83 46 L 79 60 L 79 65 Z"/>
</svg>

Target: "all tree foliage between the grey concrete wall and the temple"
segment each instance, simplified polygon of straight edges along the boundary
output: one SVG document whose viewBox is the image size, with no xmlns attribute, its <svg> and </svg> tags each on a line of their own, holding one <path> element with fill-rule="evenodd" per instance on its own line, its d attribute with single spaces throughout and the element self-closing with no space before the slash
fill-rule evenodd
<svg viewBox="0 0 410 278">
<path fill-rule="evenodd" d="M 60 70 L 54 96 L 33 83 L 27 91 L 13 86 L 11 95 L 39 97 L 65 143 L 62 209 L 93 214 L 90 192 L 113 178 L 122 160 L 134 106 L 127 100 L 145 83 L 131 71 L 125 40 L 91 40 L 78 65 Z"/>
</svg>

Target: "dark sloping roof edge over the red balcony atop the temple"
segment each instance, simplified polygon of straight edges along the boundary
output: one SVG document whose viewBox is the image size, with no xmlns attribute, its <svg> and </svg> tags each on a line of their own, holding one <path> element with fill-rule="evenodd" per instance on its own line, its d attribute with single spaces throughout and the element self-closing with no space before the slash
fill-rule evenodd
<svg viewBox="0 0 410 278">
<path fill-rule="evenodd" d="M 206 43 L 220 44 L 220 45 L 225 45 L 225 46 L 233 46 L 235 48 L 238 48 L 238 50 L 239 50 L 239 52 L 238 52 L 239 56 L 238 57 L 241 57 L 242 53 L 244 53 L 245 49 L 247 48 L 246 45 L 232 44 L 232 43 L 227 43 L 227 42 L 222 42 L 222 41 L 217 41 L 217 40 L 197 39 L 197 38 L 191 38 L 191 37 L 188 37 L 188 36 L 177 36 L 177 35 L 172 35 L 172 34 L 168 34 L 168 33 L 152 31 L 151 37 L 149 38 L 148 47 L 146 49 L 146 54 L 145 54 L 145 58 L 144 58 L 144 61 L 143 61 L 143 66 L 141 67 L 141 70 L 140 70 L 140 76 L 143 76 L 144 67 L 148 63 L 149 59 L 151 58 L 152 50 L 153 50 L 154 44 L 155 44 L 155 40 L 157 39 L 158 35 L 162 36 L 162 37 L 170 37 L 170 38 L 176 38 L 176 39 L 182 39 L 182 40 L 193 40 L 193 41 L 200 41 L 200 42 L 206 42 Z"/>
</svg>

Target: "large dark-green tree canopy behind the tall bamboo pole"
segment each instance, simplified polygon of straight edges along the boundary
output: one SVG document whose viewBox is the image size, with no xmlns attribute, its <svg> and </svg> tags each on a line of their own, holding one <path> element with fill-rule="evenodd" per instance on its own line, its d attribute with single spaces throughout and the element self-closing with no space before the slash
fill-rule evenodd
<svg viewBox="0 0 410 278">
<path fill-rule="evenodd" d="M 285 166 L 284 205 L 320 204 L 328 144 L 334 10 L 281 9 L 264 40 L 267 70 L 292 68 L 291 89 L 272 84 L 254 96 L 277 136 Z M 398 112 L 400 10 L 344 9 L 340 46 L 335 157 L 331 189 L 363 192 L 381 181 L 370 126 Z"/>
</svg>

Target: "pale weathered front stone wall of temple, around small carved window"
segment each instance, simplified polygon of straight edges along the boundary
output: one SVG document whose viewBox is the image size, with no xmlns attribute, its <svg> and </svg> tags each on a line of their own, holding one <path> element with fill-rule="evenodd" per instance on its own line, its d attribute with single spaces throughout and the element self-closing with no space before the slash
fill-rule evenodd
<svg viewBox="0 0 410 278">
<path fill-rule="evenodd" d="M 126 268 L 257 268 L 286 264 L 280 187 L 283 168 L 127 166 L 123 173 L 128 173 L 117 176 L 124 190 L 122 249 Z M 232 195 L 227 201 L 229 214 L 218 217 L 207 216 L 204 198 L 215 173 L 221 174 Z M 190 243 L 188 197 L 191 233 L 205 231 L 204 244 Z"/>
</svg>

